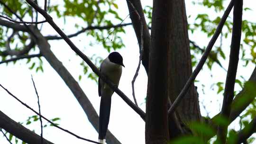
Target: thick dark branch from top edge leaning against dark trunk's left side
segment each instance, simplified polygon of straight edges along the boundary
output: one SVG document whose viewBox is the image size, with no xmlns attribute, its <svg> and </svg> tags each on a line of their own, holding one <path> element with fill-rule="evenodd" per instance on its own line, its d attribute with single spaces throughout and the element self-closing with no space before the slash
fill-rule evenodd
<svg viewBox="0 0 256 144">
<path fill-rule="evenodd" d="M 140 2 L 140 0 L 126 0 L 126 1 L 127 1 L 132 25 L 133 25 L 134 31 L 136 33 L 137 41 L 138 41 L 140 49 L 141 49 L 141 46 L 140 46 L 141 38 L 140 37 L 142 36 L 141 32 L 140 32 L 141 22 L 143 24 L 143 42 L 144 42 L 143 49 L 144 50 L 143 50 L 143 54 L 142 54 L 142 64 L 144 65 L 146 73 L 148 74 L 149 47 L 151 45 L 151 37 L 149 34 L 148 27 L 146 25 L 146 19 L 145 19 L 144 12 L 143 12 L 143 9 L 141 6 L 141 2 Z M 132 5 L 131 5 L 131 3 L 132 3 Z M 133 8 L 133 6 L 136 10 Z M 137 16 L 136 11 L 140 17 Z"/>
</svg>

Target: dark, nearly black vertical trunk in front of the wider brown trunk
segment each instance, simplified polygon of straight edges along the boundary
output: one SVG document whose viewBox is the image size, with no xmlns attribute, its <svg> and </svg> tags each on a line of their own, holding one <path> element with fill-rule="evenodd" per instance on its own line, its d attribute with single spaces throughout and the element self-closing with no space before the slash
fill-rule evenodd
<svg viewBox="0 0 256 144">
<path fill-rule="evenodd" d="M 154 0 L 146 99 L 146 144 L 167 144 L 168 54 L 171 37 L 171 0 Z"/>
</svg>

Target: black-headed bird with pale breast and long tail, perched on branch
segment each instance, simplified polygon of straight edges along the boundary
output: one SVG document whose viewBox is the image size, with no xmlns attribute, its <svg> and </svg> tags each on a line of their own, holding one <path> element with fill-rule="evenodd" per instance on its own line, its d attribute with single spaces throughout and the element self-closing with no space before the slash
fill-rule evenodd
<svg viewBox="0 0 256 144">
<path fill-rule="evenodd" d="M 100 71 L 106 76 L 114 85 L 118 87 L 120 77 L 122 74 L 123 57 L 118 52 L 112 52 L 104 59 L 100 66 Z M 98 92 L 101 97 L 100 104 L 100 123 L 99 123 L 99 143 L 105 144 L 106 133 L 110 121 L 110 107 L 111 96 L 114 91 L 110 86 L 102 81 L 98 80 Z"/>
</svg>

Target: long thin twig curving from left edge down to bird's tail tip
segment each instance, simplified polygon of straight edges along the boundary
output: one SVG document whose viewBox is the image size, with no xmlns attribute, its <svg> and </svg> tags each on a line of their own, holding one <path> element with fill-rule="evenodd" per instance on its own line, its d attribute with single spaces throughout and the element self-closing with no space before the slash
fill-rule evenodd
<svg viewBox="0 0 256 144">
<path fill-rule="evenodd" d="M 16 96 L 14 96 L 11 92 L 9 92 L 9 90 L 7 90 L 6 88 L 4 88 L 1 84 L 0 84 L 0 87 L 2 87 L 2 88 L 3 88 L 10 96 L 12 96 L 14 99 L 18 100 L 18 102 L 20 102 L 23 106 L 25 106 L 25 107 L 27 107 L 28 109 L 32 110 L 34 113 L 36 113 L 38 116 L 44 118 L 47 122 L 49 122 L 49 123 L 52 124 L 53 126 L 59 128 L 59 129 L 61 129 L 62 131 L 66 132 L 66 133 L 68 133 L 68 134 L 70 134 L 70 135 L 75 136 L 76 138 L 79 138 L 79 139 L 82 139 L 82 140 L 85 140 L 85 141 L 88 141 L 88 142 L 91 142 L 91 143 L 94 143 L 94 144 L 101 144 L 101 143 L 99 143 L 99 142 L 92 141 L 92 140 L 90 140 L 90 139 L 86 139 L 86 138 L 83 138 L 83 137 L 81 137 L 81 136 L 78 136 L 78 135 L 76 135 L 76 134 L 70 132 L 69 130 L 66 130 L 66 129 L 60 127 L 60 126 L 57 126 L 55 123 L 51 122 L 51 121 L 50 121 L 49 119 L 47 119 L 46 117 L 40 115 L 36 110 L 34 110 L 33 108 L 29 107 L 27 104 L 25 104 L 24 102 L 22 102 L 20 99 L 18 99 Z"/>
</svg>

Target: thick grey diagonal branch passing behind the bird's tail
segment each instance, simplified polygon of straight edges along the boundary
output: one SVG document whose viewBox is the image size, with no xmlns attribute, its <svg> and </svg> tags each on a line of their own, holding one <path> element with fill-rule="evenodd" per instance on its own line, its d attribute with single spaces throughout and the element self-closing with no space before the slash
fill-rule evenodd
<svg viewBox="0 0 256 144">
<path fill-rule="evenodd" d="M 92 126 L 96 129 L 97 132 L 99 132 L 99 116 L 93 108 L 90 100 L 85 95 L 82 88 L 79 86 L 78 82 L 75 81 L 71 73 L 68 72 L 64 65 L 53 54 L 53 52 L 50 49 L 50 45 L 48 44 L 44 36 L 42 36 L 40 31 L 36 27 L 33 27 L 31 29 L 33 30 L 34 34 L 38 37 L 37 45 L 40 52 L 46 58 L 47 62 L 50 63 L 50 65 L 60 75 L 60 77 L 69 87 L 69 89 L 72 91 L 73 95 L 75 96 L 75 98 L 83 108 L 84 112 L 86 113 Z M 115 136 L 112 135 L 110 131 L 107 132 L 106 140 L 109 144 L 120 144 L 117 138 L 115 138 Z"/>
</svg>

